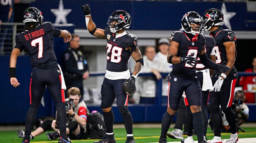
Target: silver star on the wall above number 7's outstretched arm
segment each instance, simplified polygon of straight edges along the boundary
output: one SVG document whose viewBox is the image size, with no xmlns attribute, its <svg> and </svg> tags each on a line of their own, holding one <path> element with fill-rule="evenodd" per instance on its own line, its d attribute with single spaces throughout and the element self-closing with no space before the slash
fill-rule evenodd
<svg viewBox="0 0 256 143">
<path fill-rule="evenodd" d="M 72 9 L 64 9 L 63 1 L 60 0 L 58 9 L 51 9 L 51 12 L 56 16 L 54 24 L 67 24 L 66 16 L 72 11 Z"/>
</svg>

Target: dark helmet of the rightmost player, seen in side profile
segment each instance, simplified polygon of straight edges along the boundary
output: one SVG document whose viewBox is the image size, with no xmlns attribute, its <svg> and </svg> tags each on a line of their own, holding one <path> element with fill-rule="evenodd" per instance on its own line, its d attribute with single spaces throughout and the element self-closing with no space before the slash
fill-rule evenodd
<svg viewBox="0 0 256 143">
<path fill-rule="evenodd" d="M 223 25 L 224 15 L 218 9 L 208 9 L 203 15 L 205 20 L 205 30 L 209 31 L 212 26 L 221 26 Z"/>
</svg>

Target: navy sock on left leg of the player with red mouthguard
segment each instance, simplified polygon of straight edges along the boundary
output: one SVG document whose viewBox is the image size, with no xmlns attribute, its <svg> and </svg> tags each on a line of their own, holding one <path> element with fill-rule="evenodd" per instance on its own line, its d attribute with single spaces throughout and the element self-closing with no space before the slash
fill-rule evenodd
<svg viewBox="0 0 256 143">
<path fill-rule="evenodd" d="M 162 129 L 161 129 L 161 136 L 160 139 L 166 139 L 167 131 L 169 130 L 172 122 L 172 118 L 174 116 L 170 115 L 169 113 L 165 113 L 162 118 Z"/>
</svg>

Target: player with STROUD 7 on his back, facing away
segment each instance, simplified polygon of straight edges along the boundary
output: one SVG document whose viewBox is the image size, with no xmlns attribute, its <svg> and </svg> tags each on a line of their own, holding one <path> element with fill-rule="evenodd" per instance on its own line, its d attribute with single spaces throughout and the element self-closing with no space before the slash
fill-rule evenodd
<svg viewBox="0 0 256 143">
<path fill-rule="evenodd" d="M 67 30 L 54 28 L 50 22 L 43 23 L 42 12 L 30 7 L 24 12 L 24 32 L 15 35 L 16 45 L 10 57 L 9 77 L 14 87 L 18 87 L 15 75 L 17 57 L 26 49 L 32 66 L 30 78 L 30 106 L 26 115 L 26 127 L 23 143 L 30 142 L 30 134 L 35 123 L 36 113 L 47 86 L 57 107 L 57 119 L 60 127 L 59 142 L 71 142 L 66 135 L 66 110 L 64 89 L 65 81 L 53 49 L 53 37 L 62 37 L 64 42 L 71 40 Z"/>
</svg>

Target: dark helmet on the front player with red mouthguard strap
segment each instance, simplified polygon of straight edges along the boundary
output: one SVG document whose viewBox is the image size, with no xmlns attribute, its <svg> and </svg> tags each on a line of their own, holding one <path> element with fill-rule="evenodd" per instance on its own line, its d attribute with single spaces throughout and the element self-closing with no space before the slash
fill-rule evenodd
<svg viewBox="0 0 256 143">
<path fill-rule="evenodd" d="M 191 24 L 199 25 L 199 27 L 192 27 Z M 181 27 L 186 33 L 196 35 L 201 33 L 203 21 L 197 12 L 187 12 L 181 20 Z M 194 28 L 194 30 L 193 30 Z"/>
</svg>

